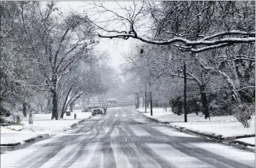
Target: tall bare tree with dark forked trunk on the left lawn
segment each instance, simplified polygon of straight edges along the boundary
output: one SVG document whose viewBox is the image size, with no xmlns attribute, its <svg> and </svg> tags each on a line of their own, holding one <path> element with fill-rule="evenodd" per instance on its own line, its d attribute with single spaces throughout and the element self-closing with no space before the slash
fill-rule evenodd
<svg viewBox="0 0 256 168">
<path fill-rule="evenodd" d="M 44 8 L 37 6 L 40 21 L 35 29 L 40 38 L 42 55 L 41 70 L 45 83 L 52 93 L 52 118 L 58 118 L 57 87 L 62 76 L 70 73 L 81 60 L 84 53 L 96 45 L 94 26 L 86 17 L 70 13 L 67 16 L 58 12 L 55 3 L 50 2 Z"/>
</svg>

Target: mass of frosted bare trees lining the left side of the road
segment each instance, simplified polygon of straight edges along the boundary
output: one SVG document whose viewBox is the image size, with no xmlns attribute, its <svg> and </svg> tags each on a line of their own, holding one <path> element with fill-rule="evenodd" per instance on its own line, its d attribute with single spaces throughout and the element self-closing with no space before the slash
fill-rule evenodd
<svg viewBox="0 0 256 168">
<path fill-rule="evenodd" d="M 96 27 L 86 14 L 53 1 L 1 1 L 1 116 L 52 113 L 63 118 L 81 97 L 108 92 L 108 53 L 94 50 Z M 104 76 L 109 72 L 109 80 Z"/>
</svg>

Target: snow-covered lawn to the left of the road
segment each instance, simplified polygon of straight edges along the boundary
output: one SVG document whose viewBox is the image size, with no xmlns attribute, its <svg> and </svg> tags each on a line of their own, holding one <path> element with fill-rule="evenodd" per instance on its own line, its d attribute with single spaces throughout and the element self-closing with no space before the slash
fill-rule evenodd
<svg viewBox="0 0 256 168">
<path fill-rule="evenodd" d="M 74 113 L 77 118 L 74 119 Z M 33 125 L 28 124 L 28 117 L 23 118 L 23 125 L 1 126 L 1 144 L 23 143 L 23 140 L 34 138 L 38 135 L 54 135 L 69 129 L 70 125 L 91 116 L 90 112 L 82 113 L 82 110 L 74 110 L 71 116 L 64 116 L 62 120 L 51 120 L 52 114 L 33 115 Z"/>
</svg>

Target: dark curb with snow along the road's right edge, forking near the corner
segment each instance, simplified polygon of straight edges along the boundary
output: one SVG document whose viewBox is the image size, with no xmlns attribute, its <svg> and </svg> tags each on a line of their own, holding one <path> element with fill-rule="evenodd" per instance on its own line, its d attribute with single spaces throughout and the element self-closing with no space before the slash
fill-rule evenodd
<svg viewBox="0 0 256 168">
<path fill-rule="evenodd" d="M 142 112 L 140 112 L 139 110 L 137 110 L 137 111 L 138 111 L 139 113 L 142 113 Z M 158 120 L 157 118 L 148 117 L 147 115 L 144 115 L 143 113 L 142 113 L 142 115 L 143 115 L 144 117 L 147 117 L 147 118 L 149 118 L 149 119 L 155 121 L 155 122 L 164 123 L 164 124 L 166 124 L 166 125 L 168 125 L 168 126 L 174 128 L 174 129 L 176 129 L 176 130 L 179 130 L 179 131 L 181 131 L 181 132 L 186 131 L 186 132 L 191 132 L 192 134 L 196 134 L 196 135 L 203 135 L 204 137 L 209 137 L 209 138 L 211 138 L 211 139 L 213 139 L 213 140 L 216 140 L 216 141 L 218 141 L 218 142 L 221 142 L 221 143 L 223 143 L 222 141 L 225 142 L 225 140 L 240 139 L 240 138 L 248 138 L 248 137 L 255 137 L 255 134 L 251 134 L 251 135 L 240 135 L 240 136 L 236 136 L 236 137 L 223 137 L 223 135 L 208 134 L 208 133 L 206 133 L 206 132 L 199 132 L 199 131 L 196 131 L 196 130 L 187 129 L 186 127 L 179 127 L 179 126 L 177 126 L 177 125 L 172 125 L 172 124 L 170 124 L 170 122 L 161 122 L 161 121 Z M 223 144 L 229 144 L 229 145 L 233 145 L 233 146 L 235 146 L 235 147 L 240 147 L 240 148 L 242 148 L 242 149 L 247 149 L 247 150 L 250 150 L 250 151 L 252 151 L 252 152 L 255 152 L 255 149 L 247 148 L 247 146 L 255 147 L 255 145 L 253 145 L 253 144 L 248 144 L 248 143 L 245 143 L 245 142 L 241 142 L 241 141 L 239 141 L 239 140 L 233 140 L 233 141 L 231 141 L 231 142 L 223 143 Z M 236 145 L 236 144 L 239 144 L 239 145 Z M 243 145 L 243 146 L 241 147 L 241 145 Z"/>
</svg>

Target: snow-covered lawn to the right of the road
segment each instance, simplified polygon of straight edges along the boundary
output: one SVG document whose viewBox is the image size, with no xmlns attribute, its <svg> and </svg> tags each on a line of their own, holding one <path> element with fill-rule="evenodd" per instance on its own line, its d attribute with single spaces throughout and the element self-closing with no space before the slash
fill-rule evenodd
<svg viewBox="0 0 256 168">
<path fill-rule="evenodd" d="M 145 112 L 142 108 L 138 110 Z M 211 120 L 209 120 L 204 119 L 202 113 L 199 113 L 199 115 L 192 113 L 187 115 L 186 123 L 184 122 L 184 115 L 178 116 L 169 110 L 164 112 L 163 108 L 157 108 L 155 110 L 153 108 L 153 116 L 150 113 L 143 113 L 143 115 L 158 119 L 161 122 L 170 122 L 170 125 L 185 127 L 186 129 L 208 134 L 222 135 L 223 137 L 255 134 L 255 117 L 253 117 L 250 128 L 244 128 L 242 123 L 238 122 L 233 115 L 211 117 Z M 255 144 L 255 142 L 253 143 Z"/>
</svg>

